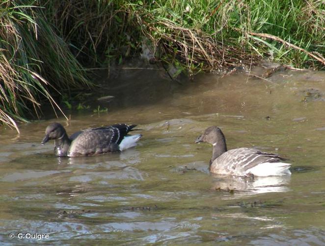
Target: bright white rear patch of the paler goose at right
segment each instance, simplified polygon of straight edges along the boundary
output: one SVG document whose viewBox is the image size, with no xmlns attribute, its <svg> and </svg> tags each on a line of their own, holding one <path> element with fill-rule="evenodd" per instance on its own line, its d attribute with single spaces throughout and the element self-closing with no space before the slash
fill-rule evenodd
<svg viewBox="0 0 325 246">
<path fill-rule="evenodd" d="M 290 166 L 291 164 L 284 162 L 264 162 L 247 169 L 246 173 L 252 173 L 260 177 L 290 175 Z"/>
</svg>

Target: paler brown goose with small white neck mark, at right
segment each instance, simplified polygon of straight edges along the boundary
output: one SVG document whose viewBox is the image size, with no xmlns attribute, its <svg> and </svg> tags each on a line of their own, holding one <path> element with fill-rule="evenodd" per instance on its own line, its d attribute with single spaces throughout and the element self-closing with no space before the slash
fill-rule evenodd
<svg viewBox="0 0 325 246">
<path fill-rule="evenodd" d="M 251 148 L 227 151 L 226 139 L 217 126 L 208 127 L 195 143 L 206 142 L 213 145 L 209 169 L 212 173 L 236 176 L 280 176 L 290 175 L 291 164 L 278 154 L 262 152 Z"/>
</svg>

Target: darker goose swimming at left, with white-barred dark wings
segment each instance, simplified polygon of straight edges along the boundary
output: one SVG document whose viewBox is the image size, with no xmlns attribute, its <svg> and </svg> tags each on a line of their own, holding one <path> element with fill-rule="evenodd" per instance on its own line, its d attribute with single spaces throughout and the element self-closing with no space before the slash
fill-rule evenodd
<svg viewBox="0 0 325 246">
<path fill-rule="evenodd" d="M 141 134 L 127 135 L 135 125 L 113 124 L 75 132 L 68 137 L 60 123 L 46 127 L 41 144 L 54 139 L 54 154 L 57 156 L 87 156 L 119 152 L 136 145 Z"/>
</svg>

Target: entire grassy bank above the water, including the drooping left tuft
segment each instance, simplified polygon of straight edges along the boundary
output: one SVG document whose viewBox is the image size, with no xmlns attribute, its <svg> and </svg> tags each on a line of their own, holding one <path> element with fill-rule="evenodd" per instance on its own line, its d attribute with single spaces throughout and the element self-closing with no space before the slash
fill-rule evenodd
<svg viewBox="0 0 325 246">
<path fill-rule="evenodd" d="M 323 0 L 2 0 L 0 22 L 0 120 L 17 130 L 90 86 L 85 67 L 145 51 L 190 76 L 261 59 L 325 67 Z"/>
</svg>

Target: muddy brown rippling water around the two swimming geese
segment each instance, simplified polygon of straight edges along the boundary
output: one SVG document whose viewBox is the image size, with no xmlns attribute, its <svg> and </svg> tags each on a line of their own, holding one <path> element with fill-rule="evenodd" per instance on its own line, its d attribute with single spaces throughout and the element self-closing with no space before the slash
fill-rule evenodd
<svg viewBox="0 0 325 246">
<path fill-rule="evenodd" d="M 70 122 L 25 124 L 20 135 L 1 129 L 1 245 L 325 244 L 324 72 L 201 75 L 176 83 L 161 71 L 126 69 L 102 85 L 93 98 L 114 100 L 86 98 L 90 109 L 67 111 Z M 98 105 L 108 112 L 93 112 Z M 143 138 L 121 154 L 58 158 L 53 143 L 40 145 L 54 121 L 68 133 L 136 123 Z M 290 158 L 292 176 L 209 174 L 212 148 L 194 140 L 210 125 L 223 129 L 229 149 Z"/>
</svg>

